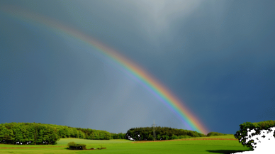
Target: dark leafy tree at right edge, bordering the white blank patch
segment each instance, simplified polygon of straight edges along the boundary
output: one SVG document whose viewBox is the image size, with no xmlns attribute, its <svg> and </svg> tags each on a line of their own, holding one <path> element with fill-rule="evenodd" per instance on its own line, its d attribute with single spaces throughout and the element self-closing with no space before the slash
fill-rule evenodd
<svg viewBox="0 0 275 154">
<path fill-rule="evenodd" d="M 275 121 L 261 121 L 257 123 L 246 122 L 240 124 L 240 131 L 237 131 L 234 136 L 242 145 L 254 148 L 257 142 L 255 142 L 252 137 L 261 135 L 262 131 L 271 133 L 271 128 L 275 128 Z M 252 130 L 254 130 L 254 133 L 251 133 Z M 251 134 L 249 135 L 249 133 Z M 275 136 L 275 133 L 273 136 Z"/>
</svg>

